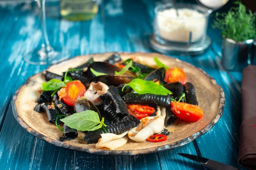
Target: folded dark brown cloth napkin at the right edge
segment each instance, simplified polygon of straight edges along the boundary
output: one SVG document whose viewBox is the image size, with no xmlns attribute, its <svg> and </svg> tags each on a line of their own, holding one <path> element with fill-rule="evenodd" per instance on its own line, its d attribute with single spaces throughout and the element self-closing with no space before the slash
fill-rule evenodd
<svg viewBox="0 0 256 170">
<path fill-rule="evenodd" d="M 256 170 L 256 66 L 243 70 L 241 84 L 242 115 L 238 164 L 249 170 Z"/>
</svg>

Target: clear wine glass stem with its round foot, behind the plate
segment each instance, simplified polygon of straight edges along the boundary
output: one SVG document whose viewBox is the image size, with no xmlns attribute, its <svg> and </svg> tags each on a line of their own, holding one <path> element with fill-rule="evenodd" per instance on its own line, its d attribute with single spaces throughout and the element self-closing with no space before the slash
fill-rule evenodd
<svg viewBox="0 0 256 170">
<path fill-rule="evenodd" d="M 46 16 L 45 16 L 45 0 L 35 0 L 40 9 L 40 22 L 43 32 L 43 43 L 40 47 L 25 53 L 24 60 L 29 64 L 54 64 L 67 59 L 70 56 L 70 51 L 64 47 L 52 47 L 49 44 Z"/>
</svg>

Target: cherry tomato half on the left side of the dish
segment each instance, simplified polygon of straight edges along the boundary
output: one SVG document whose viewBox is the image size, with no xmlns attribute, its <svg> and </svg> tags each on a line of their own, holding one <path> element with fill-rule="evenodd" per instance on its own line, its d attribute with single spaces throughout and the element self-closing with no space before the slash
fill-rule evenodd
<svg viewBox="0 0 256 170">
<path fill-rule="evenodd" d="M 67 87 L 63 87 L 60 90 L 61 93 L 65 90 L 65 93 L 61 95 L 58 93 L 58 95 L 61 96 L 61 99 L 65 104 L 74 106 L 75 100 L 84 95 L 86 91 L 85 86 L 80 81 L 68 82 L 66 85 Z"/>
</svg>

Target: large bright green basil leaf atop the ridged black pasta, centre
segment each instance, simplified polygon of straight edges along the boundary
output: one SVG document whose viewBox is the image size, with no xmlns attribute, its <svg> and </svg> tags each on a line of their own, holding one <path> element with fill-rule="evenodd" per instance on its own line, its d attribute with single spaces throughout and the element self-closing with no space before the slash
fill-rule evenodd
<svg viewBox="0 0 256 170">
<path fill-rule="evenodd" d="M 155 94 L 155 95 L 167 95 L 172 94 L 167 88 L 162 85 L 156 84 L 155 82 L 146 81 L 143 79 L 133 79 L 130 83 L 125 84 L 122 88 L 124 91 L 125 86 L 130 86 L 138 94 Z"/>
</svg>

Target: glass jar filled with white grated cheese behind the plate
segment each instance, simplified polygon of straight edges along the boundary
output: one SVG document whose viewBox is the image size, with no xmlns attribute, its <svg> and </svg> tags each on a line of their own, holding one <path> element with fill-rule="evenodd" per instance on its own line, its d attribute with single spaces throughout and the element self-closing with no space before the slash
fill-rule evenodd
<svg viewBox="0 0 256 170">
<path fill-rule="evenodd" d="M 194 9 L 164 9 L 157 13 L 157 26 L 160 37 L 174 42 L 191 42 L 205 34 L 207 19 L 203 13 Z"/>
</svg>

